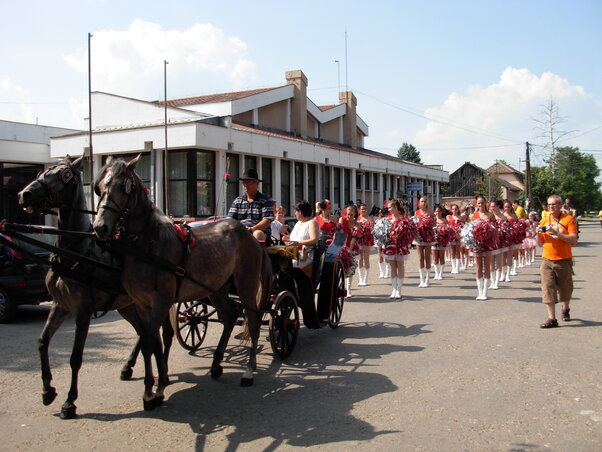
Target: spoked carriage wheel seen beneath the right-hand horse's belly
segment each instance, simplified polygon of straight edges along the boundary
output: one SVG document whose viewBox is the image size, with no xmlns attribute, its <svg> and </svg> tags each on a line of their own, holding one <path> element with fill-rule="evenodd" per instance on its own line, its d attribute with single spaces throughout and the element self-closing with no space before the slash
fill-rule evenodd
<svg viewBox="0 0 602 452">
<path fill-rule="evenodd" d="M 171 326 L 182 347 L 191 352 L 198 350 L 207 335 L 207 304 L 202 301 L 183 301 L 169 311 Z"/>
</svg>

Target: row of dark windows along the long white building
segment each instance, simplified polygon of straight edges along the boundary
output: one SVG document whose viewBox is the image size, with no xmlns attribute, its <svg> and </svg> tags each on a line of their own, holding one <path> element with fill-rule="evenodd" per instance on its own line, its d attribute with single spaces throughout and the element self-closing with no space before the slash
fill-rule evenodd
<svg viewBox="0 0 602 452">
<path fill-rule="evenodd" d="M 221 204 L 225 189 L 225 204 L 232 204 L 234 198 L 240 195 L 238 178 L 241 171 L 249 168 L 259 169 L 261 166 L 261 191 L 274 197 L 274 159 L 262 157 L 258 162 L 257 156 L 227 153 L 226 172 L 230 175 L 226 180 L 219 175 L 218 193 L 215 193 L 216 162 L 215 152 L 197 149 L 169 151 L 167 158 L 167 205 L 170 215 L 175 217 L 206 217 L 215 212 L 216 202 Z M 115 155 L 125 160 L 132 154 Z M 103 157 L 103 164 L 106 157 Z M 136 173 L 142 182 L 150 186 L 151 164 L 150 153 L 143 153 Z M 242 165 L 241 165 L 242 163 Z M 291 199 L 307 199 L 313 203 L 319 199 L 330 198 L 332 187 L 332 202 L 342 206 L 352 201 L 355 194 L 351 193 L 351 170 L 331 167 L 328 165 L 304 164 L 290 160 L 280 160 L 280 203 L 291 212 Z M 294 172 L 294 185 L 292 175 Z M 321 193 L 317 193 L 317 181 L 320 181 Z M 343 178 L 341 180 L 341 177 Z M 87 177 L 85 177 L 87 180 Z M 342 182 L 342 184 L 341 184 Z M 305 192 L 304 185 L 307 185 Z M 379 173 L 358 172 L 356 174 L 356 189 L 378 191 Z M 404 192 L 401 179 L 392 175 L 383 177 L 383 192 L 398 194 Z M 304 194 L 305 193 L 305 194 Z M 217 200 L 216 200 L 217 195 Z M 291 198 L 291 195 L 294 195 Z"/>
</svg>

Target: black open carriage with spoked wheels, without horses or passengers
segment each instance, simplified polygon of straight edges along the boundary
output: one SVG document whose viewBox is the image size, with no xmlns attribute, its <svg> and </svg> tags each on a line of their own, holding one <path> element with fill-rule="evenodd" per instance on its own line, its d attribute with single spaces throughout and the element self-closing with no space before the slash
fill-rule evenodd
<svg viewBox="0 0 602 452">
<path fill-rule="evenodd" d="M 267 311 L 269 318 L 263 324 L 268 325 L 270 345 L 279 358 L 288 357 L 295 347 L 301 324 L 299 311 L 303 314 L 303 324 L 309 329 L 338 326 L 346 295 L 343 264 L 339 257 L 345 238 L 345 234 L 337 233 L 327 246 L 326 238 L 321 237 L 314 246 L 311 274 L 293 267 L 292 260 L 299 252 L 297 246 L 266 248 L 272 263 L 272 306 Z M 231 294 L 231 298 L 235 300 L 236 294 Z M 206 299 L 178 302 L 170 311 L 177 341 L 191 352 L 202 345 L 209 323 L 221 321 L 216 317 L 215 308 Z M 242 316 L 239 316 L 237 323 L 241 322 Z"/>
</svg>

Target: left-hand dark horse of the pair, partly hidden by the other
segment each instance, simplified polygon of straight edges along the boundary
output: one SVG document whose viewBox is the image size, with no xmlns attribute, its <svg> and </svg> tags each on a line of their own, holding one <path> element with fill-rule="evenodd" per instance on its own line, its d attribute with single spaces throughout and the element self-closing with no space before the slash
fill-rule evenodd
<svg viewBox="0 0 602 452">
<path fill-rule="evenodd" d="M 60 230 L 91 232 L 92 223 L 86 209 L 82 185 L 83 157 L 71 161 L 69 157 L 58 164 L 41 172 L 36 180 L 19 192 L 19 204 L 28 212 L 38 210 L 58 209 L 58 224 Z M 93 235 L 89 238 L 81 236 L 59 235 L 57 247 L 85 255 L 97 261 L 119 265 L 108 252 L 104 251 Z M 75 262 L 71 258 L 57 256 L 59 263 L 72 267 Z M 46 276 L 46 286 L 52 296 L 50 315 L 40 338 L 38 348 L 42 365 L 42 400 L 44 405 L 50 405 L 57 396 L 51 386 L 52 373 L 48 359 L 48 347 L 54 333 L 69 315 L 75 316 L 76 331 L 73 350 L 71 353 L 71 388 L 67 400 L 61 408 L 61 418 L 71 419 L 76 415 L 74 404 L 78 397 L 78 372 L 81 368 L 86 337 L 90 326 L 90 318 L 94 312 L 118 310 L 136 329 L 141 332 L 141 319 L 132 299 L 123 291 L 120 284 L 115 284 L 115 275 L 107 270 L 87 264 L 77 264 L 77 280 L 65 275 L 59 275 L 52 269 Z M 100 282 L 108 291 L 97 290 L 85 281 Z M 169 350 L 173 338 L 173 329 L 169 321 L 163 322 L 163 340 L 166 350 Z M 127 380 L 132 375 L 132 367 L 136 363 L 140 341 L 138 340 L 127 363 L 121 370 L 121 379 Z M 166 352 L 166 357 L 167 359 Z"/>
</svg>

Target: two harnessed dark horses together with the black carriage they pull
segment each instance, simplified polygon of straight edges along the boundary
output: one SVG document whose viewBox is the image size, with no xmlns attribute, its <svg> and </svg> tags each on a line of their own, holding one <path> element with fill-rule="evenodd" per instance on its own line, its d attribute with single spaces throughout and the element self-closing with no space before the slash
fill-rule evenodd
<svg viewBox="0 0 602 452">
<path fill-rule="evenodd" d="M 143 403 L 147 410 L 163 401 L 169 384 L 167 357 L 174 334 L 170 317 L 178 341 L 188 349 L 198 348 L 207 322 L 213 320 L 207 303 L 210 301 L 223 323 L 210 370 L 211 376 L 218 378 L 232 329 L 244 315 L 245 336 L 251 344 L 242 386 L 253 382 L 259 328 L 266 314 L 270 343 L 280 357 L 288 356 L 295 346 L 299 309 L 308 328 L 338 325 L 345 296 L 339 257 L 344 234 L 335 237 L 327 249 L 322 244 L 317 246 L 311 275 L 291 265 L 294 247 L 266 251 L 234 220 L 189 228 L 182 245 L 181 234 L 148 199 L 134 173 L 137 159 L 128 163 L 117 160 L 101 170 L 95 183 L 100 202 L 92 224 L 88 215 L 92 212 L 86 210 L 83 196 L 82 161 L 83 157 L 75 161 L 67 158 L 43 171 L 19 193 L 19 202 L 28 211 L 58 210 L 59 228 L 53 232 L 58 235 L 57 246 L 41 246 L 53 252 L 55 258 L 48 262 L 47 283 L 53 305 L 40 335 L 39 351 L 43 402 L 49 405 L 57 393 L 51 386 L 48 346 L 64 319 L 73 315 L 76 333 L 70 360 L 71 388 L 61 409 L 62 418 L 75 416 L 77 375 L 95 312 L 116 309 L 138 332 L 138 343 L 121 378 L 131 377 L 136 356 L 142 351 Z M 19 232 L 23 231 L 22 225 L 3 223 L 2 229 L 13 237 L 23 237 Z M 35 227 L 25 229 L 40 232 Z M 48 228 L 44 232 L 48 233 Z M 98 239 L 104 244 L 100 245 Z M 229 295 L 231 291 L 236 292 L 235 297 Z M 170 316 L 174 302 L 175 313 Z M 161 327 L 163 341 L 159 336 Z M 156 391 L 153 355 L 159 374 Z"/>
</svg>

